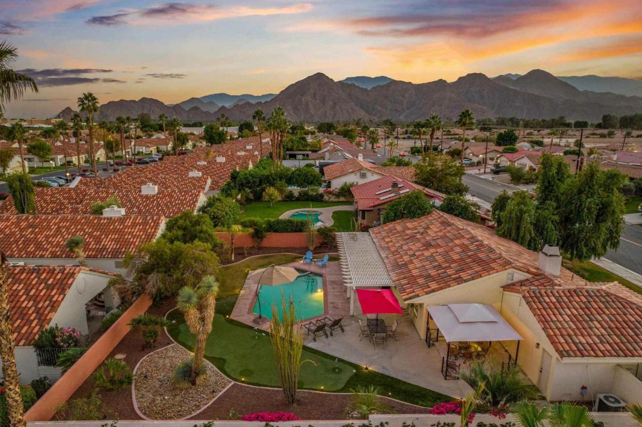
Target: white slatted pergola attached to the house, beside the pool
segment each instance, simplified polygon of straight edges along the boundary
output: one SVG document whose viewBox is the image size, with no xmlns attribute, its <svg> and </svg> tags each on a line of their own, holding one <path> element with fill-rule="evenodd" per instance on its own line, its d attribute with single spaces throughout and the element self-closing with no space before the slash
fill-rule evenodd
<svg viewBox="0 0 642 427">
<path fill-rule="evenodd" d="M 336 233 L 343 283 L 354 314 L 354 289 L 392 287 L 394 283 L 370 233 Z"/>
</svg>

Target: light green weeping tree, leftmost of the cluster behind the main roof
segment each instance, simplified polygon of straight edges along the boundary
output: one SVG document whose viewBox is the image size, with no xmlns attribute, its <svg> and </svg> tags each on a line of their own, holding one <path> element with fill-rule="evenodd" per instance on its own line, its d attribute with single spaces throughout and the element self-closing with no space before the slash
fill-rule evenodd
<svg viewBox="0 0 642 427">
<path fill-rule="evenodd" d="M 535 239 L 534 221 L 535 202 L 528 192 L 516 191 L 501 213 L 497 234 L 535 251 L 539 245 Z"/>
</svg>

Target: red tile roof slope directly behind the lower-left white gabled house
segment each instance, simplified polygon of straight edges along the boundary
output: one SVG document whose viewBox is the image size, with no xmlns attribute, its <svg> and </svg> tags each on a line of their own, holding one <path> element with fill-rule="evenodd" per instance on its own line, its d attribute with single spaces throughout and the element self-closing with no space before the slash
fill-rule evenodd
<svg viewBox="0 0 642 427">
<path fill-rule="evenodd" d="M 164 221 L 150 215 L 0 215 L 0 250 L 8 258 L 74 258 L 64 243 L 81 235 L 87 258 L 124 258 L 155 240 Z"/>
</svg>

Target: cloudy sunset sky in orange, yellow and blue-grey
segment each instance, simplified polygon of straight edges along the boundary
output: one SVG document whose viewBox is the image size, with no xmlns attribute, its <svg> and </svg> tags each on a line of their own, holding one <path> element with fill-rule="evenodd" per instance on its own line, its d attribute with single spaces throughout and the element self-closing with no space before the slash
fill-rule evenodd
<svg viewBox="0 0 642 427">
<path fill-rule="evenodd" d="M 642 1 L 0 0 L 0 40 L 40 86 L 6 116 L 49 117 L 87 91 L 176 103 L 277 93 L 315 72 L 642 78 Z"/>
</svg>

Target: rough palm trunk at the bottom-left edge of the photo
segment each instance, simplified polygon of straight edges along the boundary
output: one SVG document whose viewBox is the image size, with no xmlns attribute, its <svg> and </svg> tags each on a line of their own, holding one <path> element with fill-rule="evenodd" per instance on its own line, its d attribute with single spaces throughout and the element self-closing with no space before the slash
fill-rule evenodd
<svg viewBox="0 0 642 427">
<path fill-rule="evenodd" d="M 0 45 L 1 46 L 1 45 Z M 4 253 L 0 251 L 0 357 L 2 357 L 2 373 L 4 396 L 12 426 L 26 426 L 24 421 L 24 406 L 20 392 L 18 371 L 15 367 L 15 353 L 11 310 L 9 306 L 9 278 L 7 277 L 9 265 Z"/>
</svg>

